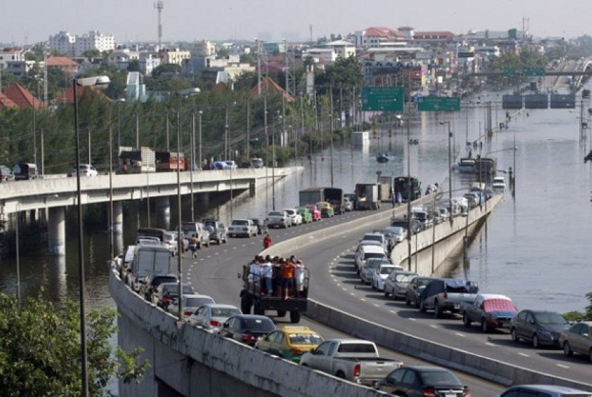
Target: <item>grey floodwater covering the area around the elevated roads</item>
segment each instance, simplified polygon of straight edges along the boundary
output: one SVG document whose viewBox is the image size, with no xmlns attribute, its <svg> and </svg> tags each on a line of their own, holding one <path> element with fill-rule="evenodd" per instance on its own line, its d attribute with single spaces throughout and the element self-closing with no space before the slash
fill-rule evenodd
<svg viewBox="0 0 592 397">
<path fill-rule="evenodd" d="M 353 191 L 354 185 L 376 181 L 377 171 L 383 175 L 407 175 L 409 152 L 410 174 L 422 186 L 438 182 L 448 190 L 449 140 L 453 131 L 453 156 L 464 151 L 466 141 L 481 136 L 485 101 L 492 101 L 494 126 L 504 117 L 500 94 L 474 98 L 468 109 L 456 114 L 415 114 L 409 118 L 409 129 L 389 123 L 377 127 L 379 139 L 372 139 L 365 149 L 352 149 L 349 144 L 335 143 L 309 159 L 303 156 L 296 165 L 304 167 L 295 176 L 276 184 L 275 189 L 258 189 L 255 196 L 235 197 L 233 215 L 263 216 L 272 208 L 297 204 L 297 191 L 310 186 L 341 187 Z M 579 105 L 578 105 L 579 106 Z M 465 108 L 465 106 L 463 105 Z M 586 105 L 586 110 L 589 105 Z M 496 109 L 497 108 L 497 109 Z M 580 139 L 579 109 L 531 110 L 515 114 L 509 129 L 494 132 L 482 140 L 481 154 L 498 159 L 498 169 L 514 167 L 515 196 L 506 190 L 504 202 L 471 241 L 468 261 L 460 263 L 455 273 L 479 282 L 481 291 L 503 293 L 514 299 L 519 308 L 546 308 L 553 311 L 583 310 L 588 304 L 585 294 L 592 291 L 592 270 L 588 244 L 592 242 L 592 165 L 583 164 L 590 149 L 590 137 Z M 407 117 L 407 116 L 406 116 Z M 440 124 L 440 121 L 450 121 Z M 388 130 L 392 128 L 392 136 Z M 417 139 L 417 144 L 408 144 Z M 517 150 L 514 151 L 514 140 Z M 326 146 L 326 144 L 325 144 Z M 377 163 L 378 152 L 392 155 L 386 164 Z M 331 156 L 332 152 L 332 156 Z M 479 149 L 474 149 L 475 155 Z M 515 155 L 515 157 L 514 157 Z M 331 161 L 332 158 L 332 161 Z M 292 164 L 294 165 L 294 164 Z M 270 170 L 271 174 L 271 170 Z M 466 179 L 452 174 L 453 189 L 466 186 Z M 274 192 L 275 191 L 275 192 Z M 461 193 L 459 193 L 460 195 Z M 133 207 L 133 206 L 131 206 Z M 140 206 L 145 218 L 145 204 Z M 171 208 L 171 213 L 175 210 Z M 133 211 L 129 211 L 133 212 Z M 131 241 L 137 221 L 128 221 L 135 214 L 124 216 L 124 241 Z M 189 208 L 183 208 L 183 217 Z M 230 204 L 207 211 L 196 209 L 196 218 L 217 215 L 228 221 Z M 75 216 L 72 213 L 72 216 Z M 68 239 L 64 258 L 28 256 L 21 252 L 19 270 L 22 296 L 36 295 L 45 288 L 45 296 L 60 301 L 65 296 L 78 296 L 78 260 L 76 218 L 68 221 Z M 155 222 L 153 222 L 155 226 Z M 106 231 L 91 231 L 85 237 L 86 294 L 91 304 L 113 306 L 108 293 L 109 236 Z M 16 261 L 0 262 L 0 291 L 16 293 Z"/>
</svg>

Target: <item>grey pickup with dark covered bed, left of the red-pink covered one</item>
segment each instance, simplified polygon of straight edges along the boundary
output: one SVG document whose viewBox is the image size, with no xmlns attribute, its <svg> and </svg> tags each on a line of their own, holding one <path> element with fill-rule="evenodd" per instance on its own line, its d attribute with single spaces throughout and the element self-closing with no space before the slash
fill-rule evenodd
<svg viewBox="0 0 592 397">
<path fill-rule="evenodd" d="M 459 313 L 461 303 L 474 302 L 479 286 L 462 278 L 436 278 L 419 293 L 419 310 L 434 310 L 438 318 L 443 311 Z"/>
</svg>

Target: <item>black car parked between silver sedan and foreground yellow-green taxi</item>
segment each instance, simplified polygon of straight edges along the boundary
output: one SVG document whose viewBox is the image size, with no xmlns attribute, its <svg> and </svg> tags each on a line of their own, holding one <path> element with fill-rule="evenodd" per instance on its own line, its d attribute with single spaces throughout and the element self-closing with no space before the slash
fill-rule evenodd
<svg viewBox="0 0 592 397">
<path fill-rule="evenodd" d="M 224 321 L 218 333 L 224 338 L 255 346 L 257 341 L 272 331 L 275 331 L 275 325 L 267 316 L 237 314 Z"/>
</svg>

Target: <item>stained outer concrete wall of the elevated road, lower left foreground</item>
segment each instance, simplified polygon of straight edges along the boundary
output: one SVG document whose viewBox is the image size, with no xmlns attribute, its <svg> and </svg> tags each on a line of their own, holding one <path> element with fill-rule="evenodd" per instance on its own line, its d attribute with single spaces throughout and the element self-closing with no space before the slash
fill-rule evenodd
<svg viewBox="0 0 592 397">
<path fill-rule="evenodd" d="M 141 358 L 152 364 L 143 382 L 120 384 L 122 397 L 156 397 L 168 389 L 183 396 L 384 396 L 179 323 L 133 293 L 116 273 L 109 288 L 120 313 L 120 346 L 143 348 Z"/>
</svg>

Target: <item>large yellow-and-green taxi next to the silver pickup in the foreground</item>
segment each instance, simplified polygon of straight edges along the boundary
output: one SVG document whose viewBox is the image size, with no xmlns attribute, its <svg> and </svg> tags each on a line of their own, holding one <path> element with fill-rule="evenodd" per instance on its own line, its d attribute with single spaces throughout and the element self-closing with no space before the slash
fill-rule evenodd
<svg viewBox="0 0 592 397">
<path fill-rule="evenodd" d="M 302 354 L 319 346 L 323 338 L 306 326 L 282 326 L 255 343 L 260 351 L 300 363 Z"/>
</svg>

